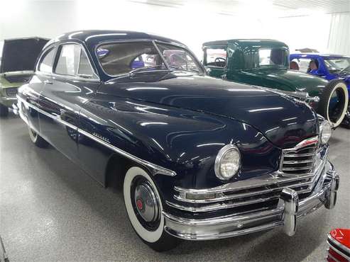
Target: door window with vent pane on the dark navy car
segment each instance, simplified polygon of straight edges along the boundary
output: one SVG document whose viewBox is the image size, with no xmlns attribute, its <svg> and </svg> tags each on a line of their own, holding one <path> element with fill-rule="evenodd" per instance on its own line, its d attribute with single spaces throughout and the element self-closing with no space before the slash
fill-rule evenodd
<svg viewBox="0 0 350 262">
<path fill-rule="evenodd" d="M 60 56 L 55 68 L 56 74 L 92 78 L 94 70 L 80 45 L 65 44 L 60 48 Z"/>
</svg>

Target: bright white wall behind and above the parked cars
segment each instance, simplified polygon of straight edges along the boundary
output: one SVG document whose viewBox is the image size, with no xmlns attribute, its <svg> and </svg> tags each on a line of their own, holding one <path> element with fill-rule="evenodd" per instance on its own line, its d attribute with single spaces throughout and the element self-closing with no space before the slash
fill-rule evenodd
<svg viewBox="0 0 350 262">
<path fill-rule="evenodd" d="M 218 13 L 214 1 L 180 3 L 1 0 L 0 40 L 33 35 L 53 38 L 83 29 L 139 30 L 180 40 L 199 57 L 202 42 L 229 38 L 271 38 L 286 42 L 290 50 L 310 47 L 327 52 L 329 47 L 332 52 L 349 54 L 349 13 L 332 16 L 310 11 L 278 18 L 281 11 L 267 0 L 244 1 L 227 8 L 227 13 Z M 230 1 L 219 3 L 222 10 Z"/>
</svg>

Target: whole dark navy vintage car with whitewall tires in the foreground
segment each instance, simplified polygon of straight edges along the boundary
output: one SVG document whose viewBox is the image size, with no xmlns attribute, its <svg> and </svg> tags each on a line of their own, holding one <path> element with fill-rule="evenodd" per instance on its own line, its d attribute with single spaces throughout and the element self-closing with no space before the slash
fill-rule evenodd
<svg viewBox="0 0 350 262">
<path fill-rule="evenodd" d="M 302 101 L 205 76 L 175 40 L 80 31 L 43 48 L 18 113 L 105 187 L 151 248 L 234 237 L 336 203 L 332 126 Z"/>
</svg>

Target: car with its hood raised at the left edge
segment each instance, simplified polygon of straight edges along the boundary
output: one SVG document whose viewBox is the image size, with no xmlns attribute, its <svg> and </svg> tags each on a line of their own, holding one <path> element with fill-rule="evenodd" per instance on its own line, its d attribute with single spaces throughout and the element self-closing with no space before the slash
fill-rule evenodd
<svg viewBox="0 0 350 262">
<path fill-rule="evenodd" d="M 0 64 L 0 117 L 9 115 L 9 108 L 17 102 L 19 86 L 26 84 L 34 74 L 34 64 L 43 46 L 44 38 L 4 40 Z"/>
</svg>

